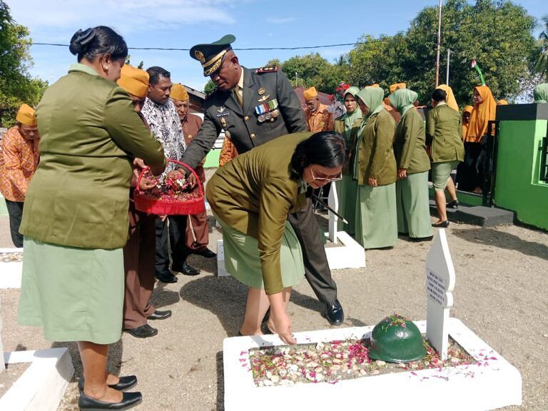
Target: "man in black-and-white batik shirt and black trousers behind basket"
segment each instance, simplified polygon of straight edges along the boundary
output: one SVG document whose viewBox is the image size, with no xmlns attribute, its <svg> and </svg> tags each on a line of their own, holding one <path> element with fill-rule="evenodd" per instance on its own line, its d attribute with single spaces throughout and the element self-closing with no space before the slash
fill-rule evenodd
<svg viewBox="0 0 548 411">
<path fill-rule="evenodd" d="M 171 73 L 164 68 L 153 66 L 147 70 L 150 76 L 148 93 L 141 113 L 145 116 L 154 136 L 163 145 L 166 158 L 181 161 L 186 144 L 183 128 L 171 93 Z M 175 168 L 168 164 L 165 173 Z M 199 270 L 186 262 L 190 250 L 186 247 L 185 233 L 188 217 L 186 215 L 169 215 L 156 219 L 156 278 L 163 283 L 176 283 L 177 278 L 169 270 L 168 235 L 171 245 L 171 270 L 185 275 L 198 275 Z"/>
</svg>

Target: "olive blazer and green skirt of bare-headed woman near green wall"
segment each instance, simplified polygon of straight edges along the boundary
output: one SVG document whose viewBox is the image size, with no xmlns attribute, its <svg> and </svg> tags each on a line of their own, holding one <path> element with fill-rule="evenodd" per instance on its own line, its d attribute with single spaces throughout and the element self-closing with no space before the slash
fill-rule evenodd
<svg viewBox="0 0 548 411">
<path fill-rule="evenodd" d="M 435 191 L 445 190 L 451 171 L 465 158 L 461 134 L 460 113 L 446 103 L 438 103 L 428 112 L 426 138 L 431 146 L 432 183 Z"/>
</svg>

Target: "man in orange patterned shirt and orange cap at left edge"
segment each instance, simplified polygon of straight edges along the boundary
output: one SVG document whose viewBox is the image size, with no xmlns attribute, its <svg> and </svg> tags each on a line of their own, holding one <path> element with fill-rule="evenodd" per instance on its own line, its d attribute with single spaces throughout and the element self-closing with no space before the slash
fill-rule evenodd
<svg viewBox="0 0 548 411">
<path fill-rule="evenodd" d="M 26 190 L 40 159 L 40 136 L 36 127 L 34 109 L 23 104 L 11 127 L 2 138 L 0 161 L 0 192 L 6 199 L 9 213 L 11 241 L 23 247 L 23 235 L 19 233 Z"/>
</svg>

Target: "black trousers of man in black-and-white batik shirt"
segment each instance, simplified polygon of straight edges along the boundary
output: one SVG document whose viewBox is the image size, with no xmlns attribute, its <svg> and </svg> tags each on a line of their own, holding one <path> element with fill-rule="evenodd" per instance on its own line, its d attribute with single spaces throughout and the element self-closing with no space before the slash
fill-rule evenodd
<svg viewBox="0 0 548 411">
<path fill-rule="evenodd" d="M 169 215 L 162 221 L 156 218 L 156 275 L 169 273 L 169 244 L 171 245 L 171 267 L 181 268 L 190 253 L 185 244 L 186 220 L 188 215 Z M 168 228 L 169 220 L 169 228 Z"/>
</svg>

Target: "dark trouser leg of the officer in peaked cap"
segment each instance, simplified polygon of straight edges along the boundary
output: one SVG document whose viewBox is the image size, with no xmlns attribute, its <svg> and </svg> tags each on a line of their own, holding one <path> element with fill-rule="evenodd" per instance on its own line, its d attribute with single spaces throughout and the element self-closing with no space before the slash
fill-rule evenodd
<svg viewBox="0 0 548 411">
<path fill-rule="evenodd" d="M 305 208 L 289 215 L 288 221 L 303 249 L 306 280 L 318 300 L 322 303 L 333 302 L 337 299 L 337 285 L 331 277 L 328 256 L 323 245 L 323 233 L 313 213 L 310 198 Z"/>
</svg>

